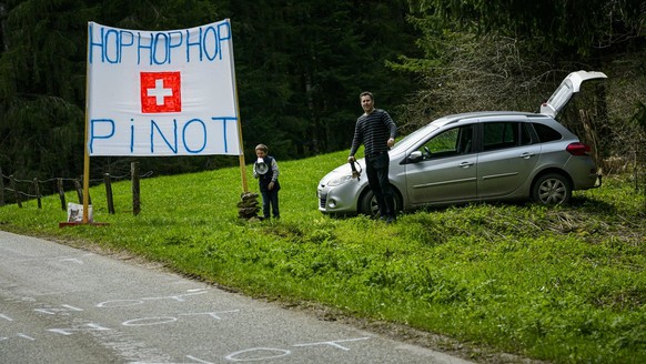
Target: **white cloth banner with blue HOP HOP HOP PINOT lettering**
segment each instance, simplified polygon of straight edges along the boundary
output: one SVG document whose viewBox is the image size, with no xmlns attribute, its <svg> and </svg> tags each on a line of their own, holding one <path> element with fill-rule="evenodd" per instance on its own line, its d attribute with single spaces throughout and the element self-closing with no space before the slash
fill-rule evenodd
<svg viewBox="0 0 646 364">
<path fill-rule="evenodd" d="M 240 155 L 229 20 L 143 31 L 88 23 L 90 155 Z"/>
</svg>

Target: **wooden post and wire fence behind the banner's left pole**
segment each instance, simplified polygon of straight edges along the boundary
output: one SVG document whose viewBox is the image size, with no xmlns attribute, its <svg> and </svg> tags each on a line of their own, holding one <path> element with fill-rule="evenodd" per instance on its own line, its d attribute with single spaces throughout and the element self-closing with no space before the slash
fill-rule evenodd
<svg viewBox="0 0 646 364">
<path fill-rule="evenodd" d="M 103 183 L 105 185 L 105 195 L 108 212 L 110 214 L 114 213 L 114 202 L 112 194 L 112 182 L 122 181 L 130 179 L 132 181 L 132 203 L 133 213 L 139 214 L 141 211 L 140 202 L 140 180 L 142 178 L 149 178 L 153 174 L 149 171 L 144 174 L 139 173 L 139 164 L 137 162 L 131 163 L 131 173 L 125 175 L 111 175 L 110 173 L 104 173 L 103 179 L 91 179 L 89 181 L 90 185 L 98 185 Z M 52 188 L 53 184 L 53 188 Z M 68 209 L 68 203 L 65 201 L 65 192 L 72 191 L 69 185 L 73 185 L 73 191 L 77 192 L 79 204 L 83 204 L 83 179 L 78 178 L 52 178 L 48 180 L 39 180 L 37 178 L 32 180 L 17 179 L 12 174 L 6 175 L 2 173 L 0 168 L 0 206 L 7 203 L 16 203 L 19 208 L 22 208 L 22 203 L 36 200 L 38 209 L 42 209 L 42 191 L 54 191 L 58 192 L 61 201 L 61 210 L 65 211 Z M 49 188 L 48 188 L 49 186 Z M 92 199 L 88 192 L 88 204 L 92 204 Z"/>
</svg>

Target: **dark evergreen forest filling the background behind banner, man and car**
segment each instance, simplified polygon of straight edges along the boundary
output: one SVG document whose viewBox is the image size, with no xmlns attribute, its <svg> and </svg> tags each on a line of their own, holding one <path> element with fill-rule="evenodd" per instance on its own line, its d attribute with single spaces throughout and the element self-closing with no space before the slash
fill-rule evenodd
<svg viewBox="0 0 646 364">
<path fill-rule="evenodd" d="M 645 12 L 643 0 L 0 0 L 0 168 L 82 174 L 88 21 L 170 30 L 226 18 L 248 162 L 261 142 L 279 160 L 349 149 L 364 90 L 407 133 L 446 113 L 537 111 L 585 69 L 608 80 L 563 122 L 617 168 L 644 160 Z M 93 158 L 91 178 L 134 160 L 155 174 L 239 162 Z"/>
</svg>

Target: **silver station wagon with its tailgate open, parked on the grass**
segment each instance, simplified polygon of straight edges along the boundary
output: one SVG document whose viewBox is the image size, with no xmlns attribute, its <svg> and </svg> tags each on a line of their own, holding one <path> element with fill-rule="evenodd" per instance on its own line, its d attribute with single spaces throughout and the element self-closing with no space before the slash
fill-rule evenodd
<svg viewBox="0 0 646 364">
<path fill-rule="evenodd" d="M 569 202 L 572 191 L 600 185 L 589 146 L 555 120 L 581 84 L 603 79 L 578 71 L 565 78 L 539 113 L 487 111 L 440 118 L 388 151 L 398 211 L 478 201 Z M 365 159 L 327 173 L 319 183 L 323 213 L 376 215 Z"/>
</svg>

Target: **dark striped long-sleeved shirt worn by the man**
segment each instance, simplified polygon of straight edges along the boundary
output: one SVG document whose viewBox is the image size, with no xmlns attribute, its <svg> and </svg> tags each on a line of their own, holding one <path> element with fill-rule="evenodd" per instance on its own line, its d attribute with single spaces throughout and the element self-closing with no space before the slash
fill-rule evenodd
<svg viewBox="0 0 646 364">
<path fill-rule="evenodd" d="M 356 120 L 354 139 L 350 155 L 354 155 L 361 143 L 365 146 L 366 155 L 388 151 L 388 138 L 395 138 L 397 127 L 391 115 L 382 109 L 374 109 L 370 114 L 363 114 Z"/>
</svg>

